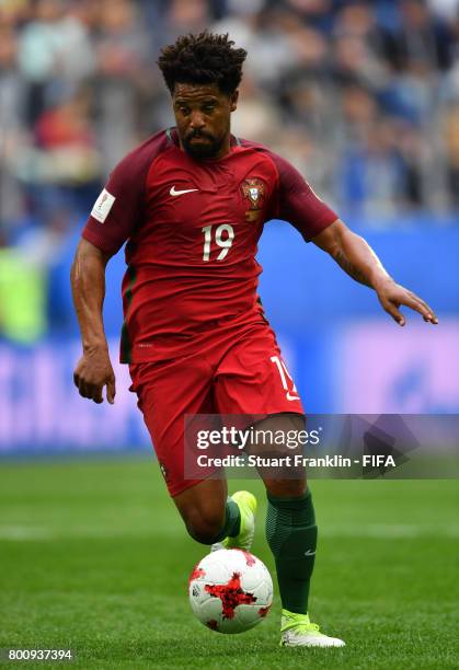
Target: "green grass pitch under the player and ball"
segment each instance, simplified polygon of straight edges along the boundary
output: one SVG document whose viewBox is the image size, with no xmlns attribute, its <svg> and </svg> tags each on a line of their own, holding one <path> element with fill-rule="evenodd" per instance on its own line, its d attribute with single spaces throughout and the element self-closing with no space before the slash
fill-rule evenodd
<svg viewBox="0 0 459 670">
<path fill-rule="evenodd" d="M 67 648 L 74 668 L 458 668 L 458 483 L 315 481 L 311 615 L 345 649 L 278 647 L 279 600 L 257 628 L 213 633 L 187 538 L 151 459 L 0 465 L 0 647 Z M 230 483 L 234 490 L 234 482 Z M 273 569 L 265 498 L 253 552 Z M 3 667 L 56 667 L 7 663 Z"/>
</svg>

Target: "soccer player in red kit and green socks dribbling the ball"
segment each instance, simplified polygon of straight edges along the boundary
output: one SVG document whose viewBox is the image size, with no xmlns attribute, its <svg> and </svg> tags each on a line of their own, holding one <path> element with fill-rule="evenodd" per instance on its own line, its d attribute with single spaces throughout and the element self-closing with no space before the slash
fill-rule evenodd
<svg viewBox="0 0 459 670">
<path fill-rule="evenodd" d="M 249 550 L 256 500 L 227 497 L 223 477 L 184 473 L 184 415 L 262 415 L 257 427 L 300 430 L 303 408 L 257 298 L 256 243 L 269 219 L 291 223 L 351 277 L 375 290 L 403 326 L 400 305 L 432 324 L 421 298 L 395 284 L 368 244 L 317 197 L 288 161 L 231 135 L 246 53 L 228 35 L 179 37 L 159 67 L 175 127 L 148 139 L 112 172 L 79 243 L 71 281 L 83 354 L 74 384 L 114 403 L 115 377 L 102 305 L 105 266 L 127 241 L 121 360 L 129 365 L 170 495 L 188 533 L 208 545 Z M 252 444 L 256 449 L 256 444 Z M 338 647 L 309 620 L 317 525 L 303 471 L 262 472 L 266 538 L 283 615 L 280 644 Z"/>
</svg>

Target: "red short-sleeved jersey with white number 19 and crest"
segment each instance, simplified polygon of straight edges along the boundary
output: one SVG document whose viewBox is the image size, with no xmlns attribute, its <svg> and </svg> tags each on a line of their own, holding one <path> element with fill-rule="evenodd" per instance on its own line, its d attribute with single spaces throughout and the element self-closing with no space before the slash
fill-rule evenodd
<svg viewBox="0 0 459 670">
<path fill-rule="evenodd" d="M 337 216 L 292 165 L 246 140 L 231 137 L 225 158 L 197 161 L 170 129 L 129 153 L 82 233 L 108 254 L 127 241 L 122 362 L 156 360 L 160 343 L 218 322 L 260 321 L 255 255 L 275 218 L 310 240 Z"/>
</svg>

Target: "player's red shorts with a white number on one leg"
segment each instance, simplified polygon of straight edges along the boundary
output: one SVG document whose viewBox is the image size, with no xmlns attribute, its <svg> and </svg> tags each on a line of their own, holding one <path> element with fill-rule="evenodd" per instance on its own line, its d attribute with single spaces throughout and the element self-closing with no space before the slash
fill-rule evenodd
<svg viewBox="0 0 459 670">
<path fill-rule="evenodd" d="M 205 478 L 185 478 L 185 415 L 303 414 L 267 323 L 203 333 L 194 345 L 194 353 L 181 358 L 129 366 L 130 390 L 171 496 Z"/>
</svg>

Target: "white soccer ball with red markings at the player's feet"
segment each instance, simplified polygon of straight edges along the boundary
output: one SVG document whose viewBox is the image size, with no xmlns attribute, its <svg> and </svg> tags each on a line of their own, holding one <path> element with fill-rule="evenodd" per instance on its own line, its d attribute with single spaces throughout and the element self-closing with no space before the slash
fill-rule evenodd
<svg viewBox="0 0 459 670">
<path fill-rule="evenodd" d="M 190 604 L 205 626 L 218 633 L 243 633 L 269 612 L 273 580 L 267 567 L 242 550 L 207 554 L 190 575 Z"/>
</svg>

